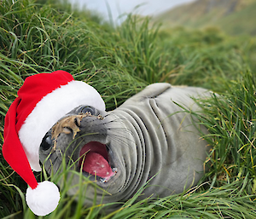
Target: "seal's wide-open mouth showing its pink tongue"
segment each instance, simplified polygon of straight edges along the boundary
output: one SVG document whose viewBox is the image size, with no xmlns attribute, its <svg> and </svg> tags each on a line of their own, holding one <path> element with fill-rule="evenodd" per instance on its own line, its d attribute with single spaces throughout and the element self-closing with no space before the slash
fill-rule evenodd
<svg viewBox="0 0 256 219">
<path fill-rule="evenodd" d="M 90 175 L 104 178 L 105 181 L 114 175 L 109 164 L 108 150 L 97 141 L 90 141 L 82 147 L 79 153 L 79 168 Z"/>
</svg>

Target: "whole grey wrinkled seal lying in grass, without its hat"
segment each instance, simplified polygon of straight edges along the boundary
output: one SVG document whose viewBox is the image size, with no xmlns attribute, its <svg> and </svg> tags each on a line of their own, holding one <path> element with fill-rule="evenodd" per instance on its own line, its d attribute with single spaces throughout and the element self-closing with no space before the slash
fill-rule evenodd
<svg viewBox="0 0 256 219">
<path fill-rule="evenodd" d="M 97 189 L 98 203 L 130 199 L 149 180 L 150 186 L 138 199 L 182 193 L 203 176 L 210 150 L 198 130 L 207 134 L 206 128 L 196 126 L 196 119 L 192 122 L 191 113 L 183 112 L 182 107 L 200 112 L 191 96 L 209 95 L 210 92 L 201 88 L 151 84 L 110 112 L 90 107 L 88 113 L 86 107 L 85 111 L 83 106 L 77 107 L 45 135 L 39 149 L 40 160 L 49 173 L 61 169 L 63 158 L 67 165 L 80 171 L 84 170 L 81 163 L 89 164 L 85 162 L 87 154 L 80 158 L 84 146 L 90 145 L 90 152 L 94 151 L 94 145 L 96 150 L 107 148 L 108 154 L 102 156 L 109 164 L 109 176 L 93 176 L 84 171 L 84 176 L 90 176 L 103 188 Z M 77 185 L 79 175 L 72 177 L 72 184 Z M 68 192 L 71 195 L 79 189 L 73 185 Z M 94 196 L 95 189 L 87 187 L 84 204 L 92 205 Z"/>
</svg>

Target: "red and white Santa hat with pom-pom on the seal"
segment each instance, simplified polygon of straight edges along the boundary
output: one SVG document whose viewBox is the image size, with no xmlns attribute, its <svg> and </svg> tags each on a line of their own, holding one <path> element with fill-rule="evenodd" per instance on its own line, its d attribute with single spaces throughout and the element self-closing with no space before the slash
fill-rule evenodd
<svg viewBox="0 0 256 219">
<path fill-rule="evenodd" d="M 89 84 L 75 81 L 64 71 L 26 78 L 9 107 L 3 132 L 3 157 L 28 184 L 26 203 L 38 216 L 55 210 L 60 200 L 53 182 L 37 182 L 39 146 L 46 132 L 74 107 L 87 105 L 105 110 L 101 95 Z"/>
</svg>

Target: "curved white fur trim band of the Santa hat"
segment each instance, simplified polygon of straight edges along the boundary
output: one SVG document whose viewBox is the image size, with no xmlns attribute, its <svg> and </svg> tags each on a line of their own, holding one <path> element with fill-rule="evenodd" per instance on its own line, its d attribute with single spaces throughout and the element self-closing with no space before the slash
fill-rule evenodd
<svg viewBox="0 0 256 219">
<path fill-rule="evenodd" d="M 19 138 L 32 170 L 41 171 L 38 150 L 46 132 L 80 105 L 105 110 L 105 103 L 96 89 L 81 81 L 71 81 L 45 95 L 27 116 L 19 130 Z"/>
</svg>

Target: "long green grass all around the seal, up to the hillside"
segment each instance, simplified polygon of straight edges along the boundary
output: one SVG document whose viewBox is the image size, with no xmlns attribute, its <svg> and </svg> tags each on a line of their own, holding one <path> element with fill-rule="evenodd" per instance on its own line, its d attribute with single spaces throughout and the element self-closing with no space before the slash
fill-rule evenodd
<svg viewBox="0 0 256 219">
<path fill-rule="evenodd" d="M 58 1 L 0 4 L 0 147 L 9 105 L 24 79 L 38 72 L 71 72 L 102 94 L 108 110 L 154 82 L 220 94 L 201 100 L 204 116 L 195 115 L 210 130 L 202 137 L 212 145 L 209 171 L 195 189 L 136 202 L 142 188 L 121 209 L 101 215 L 102 205 L 86 208 L 79 194 L 68 197 L 65 182 L 59 207 L 46 218 L 256 218 L 255 38 L 228 37 L 216 29 L 163 31 L 132 14 L 114 27 Z M 51 180 L 58 182 L 68 171 Z M 38 174 L 38 180 L 44 177 L 49 176 Z M 81 191 L 88 183 L 79 182 Z M 0 151 L 1 218 L 37 218 L 26 207 L 25 192 L 26 183 Z"/>
</svg>

